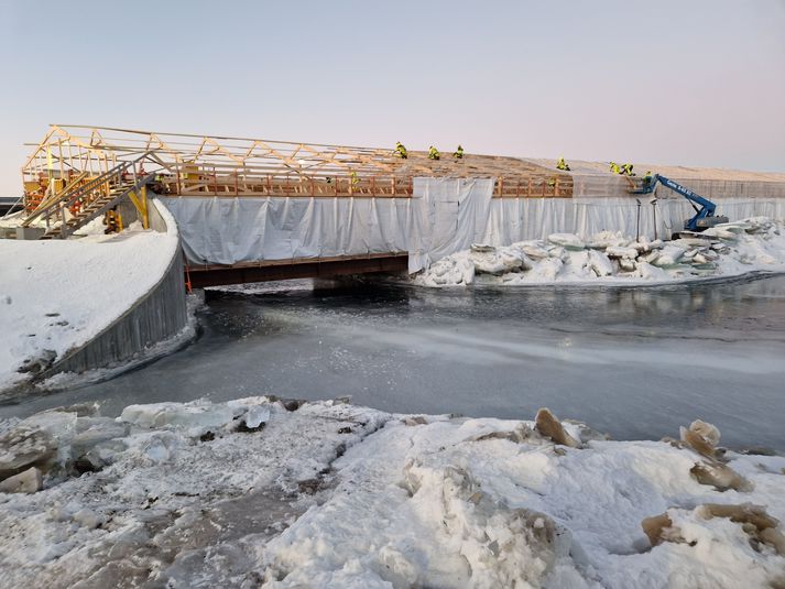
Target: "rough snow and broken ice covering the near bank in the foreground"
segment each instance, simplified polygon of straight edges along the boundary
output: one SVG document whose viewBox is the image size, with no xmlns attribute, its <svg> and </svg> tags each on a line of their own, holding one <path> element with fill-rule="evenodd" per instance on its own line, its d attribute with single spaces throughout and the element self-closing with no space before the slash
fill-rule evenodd
<svg viewBox="0 0 785 589">
<path fill-rule="evenodd" d="M 785 458 L 535 422 L 249 397 L 0 430 L 21 587 L 778 587 Z M 22 490 L 17 486 L 17 490 Z M 778 585 L 779 583 L 779 585 Z"/>
</svg>

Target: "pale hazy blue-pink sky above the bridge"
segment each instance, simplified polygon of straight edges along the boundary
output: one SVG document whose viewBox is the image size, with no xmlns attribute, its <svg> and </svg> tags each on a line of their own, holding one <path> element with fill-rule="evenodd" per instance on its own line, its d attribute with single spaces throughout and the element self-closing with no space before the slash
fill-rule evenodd
<svg viewBox="0 0 785 589">
<path fill-rule="evenodd" d="M 0 0 L 0 196 L 48 123 L 785 172 L 785 1 Z"/>
</svg>

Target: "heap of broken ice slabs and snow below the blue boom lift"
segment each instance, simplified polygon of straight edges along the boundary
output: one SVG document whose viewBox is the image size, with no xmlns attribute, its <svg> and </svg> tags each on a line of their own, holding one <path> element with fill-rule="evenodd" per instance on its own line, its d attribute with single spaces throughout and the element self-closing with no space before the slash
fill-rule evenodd
<svg viewBox="0 0 785 589">
<path fill-rule="evenodd" d="M 603 282 L 652 284 L 785 271 L 785 225 L 766 217 L 718 225 L 701 237 L 635 241 L 603 231 L 493 248 L 472 246 L 414 277 L 424 286 Z"/>
</svg>

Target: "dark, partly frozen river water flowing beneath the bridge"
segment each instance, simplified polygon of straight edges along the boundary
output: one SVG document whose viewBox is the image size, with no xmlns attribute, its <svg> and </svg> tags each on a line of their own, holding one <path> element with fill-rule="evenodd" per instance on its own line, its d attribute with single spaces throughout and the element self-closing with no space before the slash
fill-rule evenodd
<svg viewBox="0 0 785 589">
<path fill-rule="evenodd" d="M 656 288 L 434 291 L 394 284 L 208 295 L 186 349 L 111 381 L 0 406 L 351 395 L 405 413 L 533 418 L 548 406 L 615 439 L 785 450 L 785 277 Z"/>
</svg>

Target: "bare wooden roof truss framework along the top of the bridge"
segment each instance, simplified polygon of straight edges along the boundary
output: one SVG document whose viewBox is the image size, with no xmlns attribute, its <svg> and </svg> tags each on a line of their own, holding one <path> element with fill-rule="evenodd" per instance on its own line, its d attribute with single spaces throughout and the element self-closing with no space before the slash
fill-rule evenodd
<svg viewBox="0 0 785 589">
<path fill-rule="evenodd" d="M 110 127 L 52 124 L 22 166 L 25 200 L 53 182 L 98 176 L 154 152 L 156 184 L 173 196 L 411 197 L 413 178 L 494 177 L 495 197 L 570 197 L 571 176 L 513 157 L 467 154 L 429 160 L 410 151 L 237 137 L 164 133 Z M 25 203 L 30 205 L 30 203 Z"/>
</svg>

